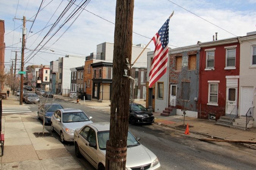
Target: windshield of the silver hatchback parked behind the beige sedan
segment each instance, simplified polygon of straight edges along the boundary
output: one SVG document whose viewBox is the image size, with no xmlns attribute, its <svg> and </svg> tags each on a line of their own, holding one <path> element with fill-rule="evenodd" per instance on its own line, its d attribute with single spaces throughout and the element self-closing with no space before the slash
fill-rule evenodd
<svg viewBox="0 0 256 170">
<path fill-rule="evenodd" d="M 83 112 L 62 113 L 62 117 L 63 123 L 90 121 L 90 119 Z"/>
</svg>

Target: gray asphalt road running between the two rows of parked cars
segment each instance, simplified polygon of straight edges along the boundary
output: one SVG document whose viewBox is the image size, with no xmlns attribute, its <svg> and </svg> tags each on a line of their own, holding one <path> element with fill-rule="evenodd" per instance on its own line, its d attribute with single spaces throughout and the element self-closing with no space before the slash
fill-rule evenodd
<svg viewBox="0 0 256 170">
<path fill-rule="evenodd" d="M 92 116 L 93 122 L 109 122 L 110 111 L 101 111 L 80 104 L 56 99 L 64 108 L 79 108 L 88 116 Z M 31 111 L 37 111 L 35 104 L 28 104 Z M 41 121 L 42 123 L 42 121 Z M 50 131 L 50 126 L 46 126 Z M 183 131 L 160 125 L 129 125 L 129 130 L 140 137 L 140 143 L 149 148 L 159 158 L 161 169 L 255 169 L 256 150 L 244 147 L 240 144 L 214 143 L 199 141 L 196 138 L 183 135 Z M 54 133 L 53 136 L 60 140 L 60 136 Z M 85 158 L 76 158 L 74 144 L 66 142 L 68 152 L 79 160 L 88 170 L 94 170 Z"/>
</svg>

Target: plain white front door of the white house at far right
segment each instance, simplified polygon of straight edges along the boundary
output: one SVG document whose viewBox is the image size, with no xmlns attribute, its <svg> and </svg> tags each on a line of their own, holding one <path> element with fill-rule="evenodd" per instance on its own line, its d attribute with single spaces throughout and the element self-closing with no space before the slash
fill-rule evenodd
<svg viewBox="0 0 256 170">
<path fill-rule="evenodd" d="M 249 108 L 253 107 L 253 87 L 242 87 L 241 103 L 240 115 L 245 116 Z"/>
</svg>

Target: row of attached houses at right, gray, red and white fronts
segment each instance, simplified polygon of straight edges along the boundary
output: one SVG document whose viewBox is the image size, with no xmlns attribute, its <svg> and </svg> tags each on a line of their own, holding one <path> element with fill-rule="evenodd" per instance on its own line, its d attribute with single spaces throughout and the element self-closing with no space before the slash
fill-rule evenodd
<svg viewBox="0 0 256 170">
<path fill-rule="evenodd" d="M 170 49 L 168 71 L 152 88 L 147 82 L 146 107 L 230 127 L 255 126 L 255 44 L 256 32 L 250 32 Z M 153 53 L 148 53 L 148 71 Z"/>
</svg>

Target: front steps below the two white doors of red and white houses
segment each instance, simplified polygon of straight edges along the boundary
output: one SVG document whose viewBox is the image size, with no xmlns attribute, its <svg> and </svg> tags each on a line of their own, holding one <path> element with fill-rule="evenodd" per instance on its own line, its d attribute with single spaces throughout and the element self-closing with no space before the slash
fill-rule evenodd
<svg viewBox="0 0 256 170">
<path fill-rule="evenodd" d="M 217 123 L 215 123 L 215 125 L 246 130 L 246 116 L 239 116 L 239 118 L 235 117 L 231 123 L 229 121 L 229 116 L 221 116 L 220 119 L 217 120 Z M 247 129 L 251 127 L 253 127 L 253 121 L 249 121 L 249 123 L 247 124 Z"/>
</svg>

